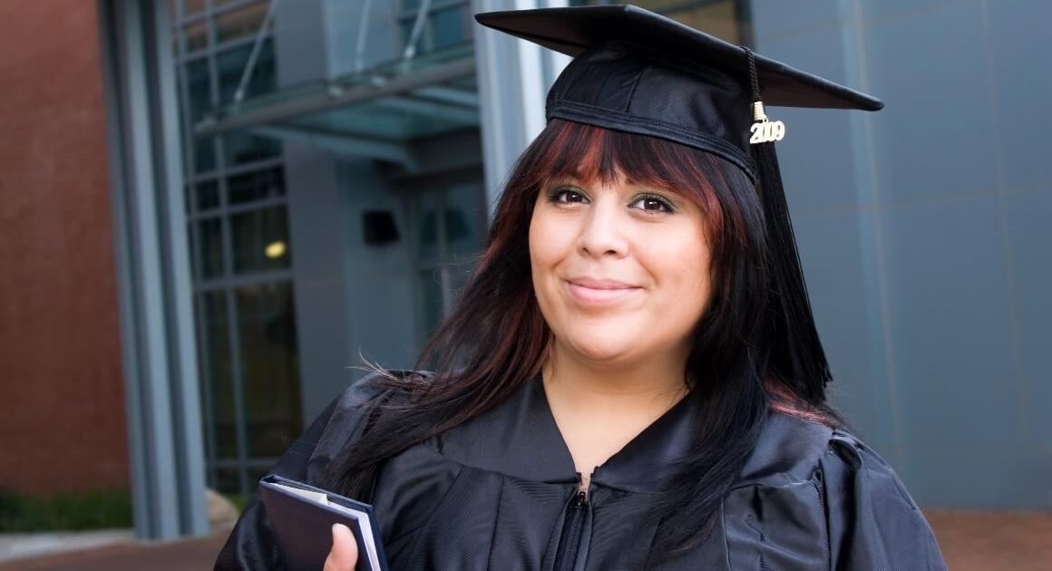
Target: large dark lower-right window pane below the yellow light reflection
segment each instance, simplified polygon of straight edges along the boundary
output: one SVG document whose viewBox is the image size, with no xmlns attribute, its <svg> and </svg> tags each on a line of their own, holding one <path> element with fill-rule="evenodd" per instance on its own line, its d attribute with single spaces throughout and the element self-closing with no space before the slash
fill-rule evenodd
<svg viewBox="0 0 1052 571">
<path fill-rule="evenodd" d="M 248 455 L 280 456 L 302 429 L 292 286 L 244 286 L 236 295 Z"/>
</svg>

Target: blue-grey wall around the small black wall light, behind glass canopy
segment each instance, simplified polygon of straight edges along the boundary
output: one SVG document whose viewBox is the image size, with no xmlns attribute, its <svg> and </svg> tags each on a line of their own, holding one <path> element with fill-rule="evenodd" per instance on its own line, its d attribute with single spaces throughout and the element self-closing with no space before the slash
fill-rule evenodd
<svg viewBox="0 0 1052 571">
<path fill-rule="evenodd" d="M 394 56 L 388 2 L 373 2 L 366 65 Z M 361 2 L 309 0 L 279 4 L 279 86 L 350 72 Z M 404 202 L 372 161 L 317 146 L 285 143 L 285 176 L 296 288 L 303 417 L 309 423 L 364 372 L 360 354 L 386 367 L 409 367 L 413 284 Z M 396 216 L 402 240 L 367 246 L 362 212 Z"/>
</svg>

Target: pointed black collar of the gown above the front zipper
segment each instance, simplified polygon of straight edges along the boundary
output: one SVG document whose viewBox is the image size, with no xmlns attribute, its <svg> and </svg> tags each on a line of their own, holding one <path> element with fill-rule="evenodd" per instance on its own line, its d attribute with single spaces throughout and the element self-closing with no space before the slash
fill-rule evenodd
<svg viewBox="0 0 1052 571">
<path fill-rule="evenodd" d="M 660 492 L 690 448 L 699 422 L 687 396 L 651 423 L 592 473 L 592 482 L 633 492 Z M 578 481 L 573 458 L 548 406 L 540 376 L 507 401 L 438 439 L 449 460 L 523 480 Z"/>
</svg>

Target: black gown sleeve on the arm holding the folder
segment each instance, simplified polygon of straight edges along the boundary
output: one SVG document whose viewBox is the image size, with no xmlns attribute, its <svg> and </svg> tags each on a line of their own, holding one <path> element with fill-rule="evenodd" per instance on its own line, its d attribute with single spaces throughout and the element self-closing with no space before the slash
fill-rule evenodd
<svg viewBox="0 0 1052 571">
<path fill-rule="evenodd" d="M 270 473 L 317 484 L 329 461 L 352 440 L 361 435 L 368 407 L 381 391 L 366 386 L 366 380 L 356 383 L 332 401 L 310 423 L 303 434 L 270 469 Z M 259 488 L 245 505 L 244 511 L 219 552 L 215 569 L 283 569 L 281 550 L 275 538 Z"/>
</svg>

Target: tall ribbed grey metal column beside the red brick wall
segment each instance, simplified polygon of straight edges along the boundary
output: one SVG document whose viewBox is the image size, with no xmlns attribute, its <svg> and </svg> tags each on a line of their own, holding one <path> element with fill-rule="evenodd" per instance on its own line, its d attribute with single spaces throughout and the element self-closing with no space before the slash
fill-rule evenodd
<svg viewBox="0 0 1052 571">
<path fill-rule="evenodd" d="M 153 3 L 99 3 L 136 533 L 207 531 L 175 85 Z"/>
</svg>

